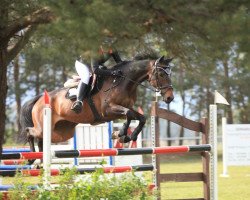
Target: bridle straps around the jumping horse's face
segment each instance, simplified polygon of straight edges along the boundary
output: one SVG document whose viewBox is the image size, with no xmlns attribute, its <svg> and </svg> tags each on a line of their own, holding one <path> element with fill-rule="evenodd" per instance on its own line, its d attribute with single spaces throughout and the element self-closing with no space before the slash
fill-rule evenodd
<svg viewBox="0 0 250 200">
<path fill-rule="evenodd" d="M 167 84 L 167 85 L 164 85 L 162 86 L 160 83 L 159 83 L 159 77 L 158 77 L 158 74 L 159 74 L 159 71 L 163 71 L 164 74 L 167 76 L 167 77 L 170 77 L 171 75 L 171 68 L 169 66 L 167 66 L 166 68 L 163 68 L 163 67 L 159 67 L 158 66 L 159 64 L 159 61 L 156 60 L 154 65 L 153 65 L 153 71 L 152 71 L 152 75 L 151 77 L 149 78 L 149 82 L 152 80 L 152 77 L 155 76 L 155 80 L 156 80 L 156 90 L 160 91 L 160 90 L 163 90 L 163 89 L 173 89 L 173 85 L 172 84 Z"/>
</svg>

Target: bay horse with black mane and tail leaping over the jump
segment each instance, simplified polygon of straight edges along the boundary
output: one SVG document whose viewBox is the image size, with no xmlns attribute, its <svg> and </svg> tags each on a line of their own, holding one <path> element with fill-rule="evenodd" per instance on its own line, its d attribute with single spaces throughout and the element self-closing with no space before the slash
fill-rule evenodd
<svg viewBox="0 0 250 200">
<path fill-rule="evenodd" d="M 49 92 L 50 105 L 52 109 L 52 135 L 53 143 L 64 142 L 74 135 L 75 126 L 79 123 L 100 124 L 116 119 L 126 119 L 118 136 L 120 142 L 127 143 L 137 140 L 146 118 L 136 112 L 133 105 L 136 102 L 137 87 L 144 81 L 158 90 L 166 103 L 173 99 L 173 87 L 171 84 L 171 59 L 164 56 L 158 59 L 141 59 L 123 61 L 113 67 L 114 70 L 121 70 L 120 77 L 99 77 L 103 80 L 101 86 L 97 87 L 95 94 L 90 95 L 92 103 L 86 99 L 83 103 L 83 110 L 76 114 L 72 111 L 72 100 L 66 98 L 68 89 L 61 88 Z M 92 106 L 90 105 L 92 104 Z M 42 151 L 43 143 L 43 108 L 44 98 L 36 96 L 26 102 L 21 109 L 20 123 L 22 126 L 21 138 L 29 142 L 31 151 L 35 152 L 34 139 L 37 139 L 39 151 Z M 93 111 L 94 106 L 94 111 Z M 96 114 L 99 117 L 96 117 Z M 131 136 L 127 130 L 131 120 L 139 120 L 138 126 Z M 33 163 L 34 160 L 29 161 Z"/>
</svg>

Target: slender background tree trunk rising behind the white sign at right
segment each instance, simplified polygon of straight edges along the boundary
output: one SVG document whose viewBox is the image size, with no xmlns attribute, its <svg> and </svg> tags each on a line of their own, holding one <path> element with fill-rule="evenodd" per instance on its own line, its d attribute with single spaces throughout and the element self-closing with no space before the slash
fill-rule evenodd
<svg viewBox="0 0 250 200">
<path fill-rule="evenodd" d="M 224 90 L 226 95 L 226 100 L 229 103 L 229 107 L 227 109 L 227 119 L 228 123 L 233 123 L 233 111 L 232 111 L 232 96 L 230 91 L 230 85 L 229 85 L 229 69 L 228 69 L 228 62 L 227 60 L 223 61 L 223 67 L 224 67 L 224 75 L 225 75 L 225 84 L 224 84 Z"/>
</svg>

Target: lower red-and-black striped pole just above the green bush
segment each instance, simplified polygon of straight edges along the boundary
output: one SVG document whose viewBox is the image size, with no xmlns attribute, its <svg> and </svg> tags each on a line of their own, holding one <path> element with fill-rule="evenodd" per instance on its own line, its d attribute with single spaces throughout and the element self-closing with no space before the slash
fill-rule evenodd
<svg viewBox="0 0 250 200">
<path fill-rule="evenodd" d="M 95 168 L 79 168 L 77 172 L 79 174 L 92 173 L 97 170 L 102 170 L 103 173 L 124 173 L 124 172 L 143 172 L 143 171 L 153 171 L 154 167 L 151 164 L 148 165 L 134 165 L 134 166 L 112 166 L 112 167 L 95 167 Z M 27 176 L 39 176 L 42 175 L 43 170 L 40 169 L 30 169 L 30 170 L 2 170 L 0 171 L 0 176 L 15 176 L 16 173 L 19 172 L 22 175 Z M 60 169 L 51 169 L 50 175 L 57 176 L 64 173 L 65 170 Z"/>
</svg>

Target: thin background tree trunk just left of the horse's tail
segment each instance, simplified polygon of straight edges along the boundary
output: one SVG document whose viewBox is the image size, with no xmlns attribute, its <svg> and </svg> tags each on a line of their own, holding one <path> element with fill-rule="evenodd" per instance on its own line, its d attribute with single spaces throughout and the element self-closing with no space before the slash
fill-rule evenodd
<svg viewBox="0 0 250 200">
<path fill-rule="evenodd" d="M 14 81 L 15 81 L 15 100 L 16 100 L 16 132 L 20 133 L 21 125 L 19 121 L 20 111 L 21 111 L 21 95 L 20 95 L 20 84 L 19 84 L 19 56 L 14 60 Z"/>
</svg>

